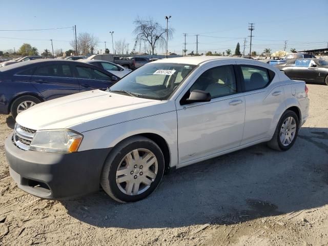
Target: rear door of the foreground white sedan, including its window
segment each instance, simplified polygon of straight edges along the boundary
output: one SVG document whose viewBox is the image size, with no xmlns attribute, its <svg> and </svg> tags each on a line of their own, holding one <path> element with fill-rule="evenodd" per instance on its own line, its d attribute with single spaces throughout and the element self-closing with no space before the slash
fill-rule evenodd
<svg viewBox="0 0 328 246">
<path fill-rule="evenodd" d="M 256 66 L 251 61 L 237 62 L 245 98 L 245 123 L 241 145 L 270 138 L 284 107 L 284 90 L 279 76 L 268 68 Z"/>
</svg>

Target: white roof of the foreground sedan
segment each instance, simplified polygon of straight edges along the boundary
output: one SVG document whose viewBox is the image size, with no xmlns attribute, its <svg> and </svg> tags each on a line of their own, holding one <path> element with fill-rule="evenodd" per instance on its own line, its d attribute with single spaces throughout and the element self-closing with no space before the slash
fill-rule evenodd
<svg viewBox="0 0 328 246">
<path fill-rule="evenodd" d="M 206 61 L 211 60 L 226 60 L 226 61 L 237 61 L 237 60 L 247 60 L 248 58 L 239 58 L 239 57 L 229 57 L 229 56 L 183 56 L 175 58 L 166 58 L 152 61 L 154 63 L 178 63 L 178 64 L 190 64 L 190 65 L 200 65 Z"/>
</svg>

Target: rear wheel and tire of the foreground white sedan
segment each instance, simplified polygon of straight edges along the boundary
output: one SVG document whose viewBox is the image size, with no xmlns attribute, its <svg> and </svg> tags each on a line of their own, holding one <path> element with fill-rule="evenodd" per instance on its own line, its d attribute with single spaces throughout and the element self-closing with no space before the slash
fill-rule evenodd
<svg viewBox="0 0 328 246">
<path fill-rule="evenodd" d="M 292 120 L 289 121 L 289 119 Z M 291 122 L 291 124 L 289 125 L 288 122 Z M 284 128 L 282 128 L 283 125 Z M 288 131 L 284 129 L 288 129 Z M 294 129 L 295 131 L 293 131 Z M 278 122 L 277 128 L 275 130 L 275 133 L 273 134 L 272 139 L 268 142 L 268 146 L 271 149 L 278 150 L 278 151 L 289 150 L 294 145 L 294 142 L 297 138 L 298 130 L 299 130 L 299 119 L 297 117 L 297 114 L 291 110 L 286 110 L 282 114 Z"/>
</svg>

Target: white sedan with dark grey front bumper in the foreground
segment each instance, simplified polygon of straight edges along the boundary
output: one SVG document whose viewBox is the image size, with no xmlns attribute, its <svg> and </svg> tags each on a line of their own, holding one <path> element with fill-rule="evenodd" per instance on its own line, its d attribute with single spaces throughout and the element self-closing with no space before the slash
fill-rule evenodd
<svg viewBox="0 0 328 246">
<path fill-rule="evenodd" d="M 19 188 L 43 198 L 99 189 L 143 199 L 165 170 L 260 142 L 290 149 L 309 115 L 308 88 L 243 58 L 169 58 L 107 91 L 46 101 L 18 114 L 5 149 Z"/>
</svg>

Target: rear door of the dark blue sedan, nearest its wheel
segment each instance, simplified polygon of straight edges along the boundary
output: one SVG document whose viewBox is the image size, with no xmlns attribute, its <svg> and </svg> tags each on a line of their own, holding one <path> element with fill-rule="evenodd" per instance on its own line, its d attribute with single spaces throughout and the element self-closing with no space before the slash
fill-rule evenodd
<svg viewBox="0 0 328 246">
<path fill-rule="evenodd" d="M 74 94 L 80 91 L 71 65 L 52 63 L 37 67 L 30 79 L 32 85 L 46 100 Z"/>
</svg>

